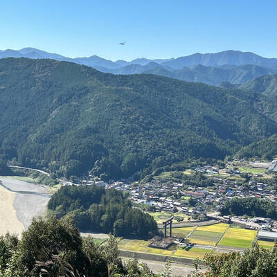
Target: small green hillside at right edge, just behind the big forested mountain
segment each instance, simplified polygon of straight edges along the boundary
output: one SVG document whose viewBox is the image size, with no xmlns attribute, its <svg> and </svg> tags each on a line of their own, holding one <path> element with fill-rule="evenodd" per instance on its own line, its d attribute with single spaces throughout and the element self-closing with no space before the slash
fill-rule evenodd
<svg viewBox="0 0 277 277">
<path fill-rule="evenodd" d="M 277 75 L 264 75 L 240 85 L 240 89 L 257 91 L 265 96 L 277 98 Z"/>
</svg>

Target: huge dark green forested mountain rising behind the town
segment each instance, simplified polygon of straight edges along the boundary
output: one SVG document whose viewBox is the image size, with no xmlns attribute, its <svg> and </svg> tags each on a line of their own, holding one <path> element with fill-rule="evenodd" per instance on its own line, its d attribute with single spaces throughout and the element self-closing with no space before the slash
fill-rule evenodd
<svg viewBox="0 0 277 277">
<path fill-rule="evenodd" d="M 0 107 L 2 157 L 66 177 L 141 177 L 277 132 L 260 93 L 55 60 L 1 59 Z"/>
</svg>

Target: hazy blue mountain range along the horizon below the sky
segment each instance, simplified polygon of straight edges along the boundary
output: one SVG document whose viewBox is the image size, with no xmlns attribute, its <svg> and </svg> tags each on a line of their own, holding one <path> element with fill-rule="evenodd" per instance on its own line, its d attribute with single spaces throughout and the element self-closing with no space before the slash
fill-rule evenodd
<svg viewBox="0 0 277 277">
<path fill-rule="evenodd" d="M 0 51 L 0 58 L 3 57 L 47 58 L 84 64 L 105 73 L 152 73 L 189 82 L 204 82 L 213 85 L 219 85 L 222 82 L 242 84 L 262 75 L 277 73 L 276 58 L 266 58 L 250 52 L 232 50 L 212 54 L 195 53 L 176 59 L 150 60 L 139 58 L 130 62 L 124 60 L 112 62 L 96 55 L 70 58 L 35 48 Z"/>
</svg>

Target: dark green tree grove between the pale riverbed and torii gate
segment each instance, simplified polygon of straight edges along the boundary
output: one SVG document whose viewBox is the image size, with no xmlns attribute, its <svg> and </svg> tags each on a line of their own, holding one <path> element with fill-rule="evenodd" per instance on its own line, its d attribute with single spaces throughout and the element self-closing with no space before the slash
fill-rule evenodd
<svg viewBox="0 0 277 277">
<path fill-rule="evenodd" d="M 72 215 L 81 231 L 114 233 L 147 239 L 157 233 L 154 218 L 138 208 L 122 192 L 97 186 L 64 186 L 51 197 L 48 208 L 58 217 Z"/>
</svg>

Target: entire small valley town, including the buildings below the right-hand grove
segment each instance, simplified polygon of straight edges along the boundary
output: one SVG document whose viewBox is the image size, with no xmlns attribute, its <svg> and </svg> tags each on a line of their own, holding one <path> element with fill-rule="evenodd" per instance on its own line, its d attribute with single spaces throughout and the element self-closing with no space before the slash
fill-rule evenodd
<svg viewBox="0 0 277 277">
<path fill-rule="evenodd" d="M 247 166 L 245 166 L 247 164 Z M 83 177 L 76 184 L 93 185 L 104 188 L 115 188 L 124 193 L 128 193 L 129 198 L 145 211 L 154 213 L 164 213 L 165 215 L 175 215 L 178 222 L 184 221 L 204 221 L 214 218 L 229 222 L 233 220 L 239 224 L 244 224 L 249 229 L 261 229 L 271 231 L 277 229 L 277 222 L 270 218 L 249 218 L 242 217 L 220 217 L 220 210 L 228 199 L 233 197 L 245 198 L 256 197 L 269 199 L 276 203 L 277 191 L 272 184 L 267 184 L 265 180 L 271 180 L 274 172 L 277 171 L 277 161 L 269 162 L 245 162 L 232 161 L 226 163 L 225 167 L 202 166 L 190 168 L 184 175 L 199 173 L 207 176 L 211 184 L 207 187 L 188 186 L 186 184 L 172 182 L 170 177 L 157 178 L 148 183 L 114 181 L 107 184 L 105 181 L 95 181 L 95 177 Z M 243 165 L 243 166 L 242 166 Z M 249 181 L 247 181 L 249 179 Z M 260 181 L 262 180 L 262 181 Z M 247 182 L 246 182 L 247 181 Z M 64 185 L 73 184 L 63 181 Z M 277 188 L 277 184 L 276 184 Z"/>
</svg>

